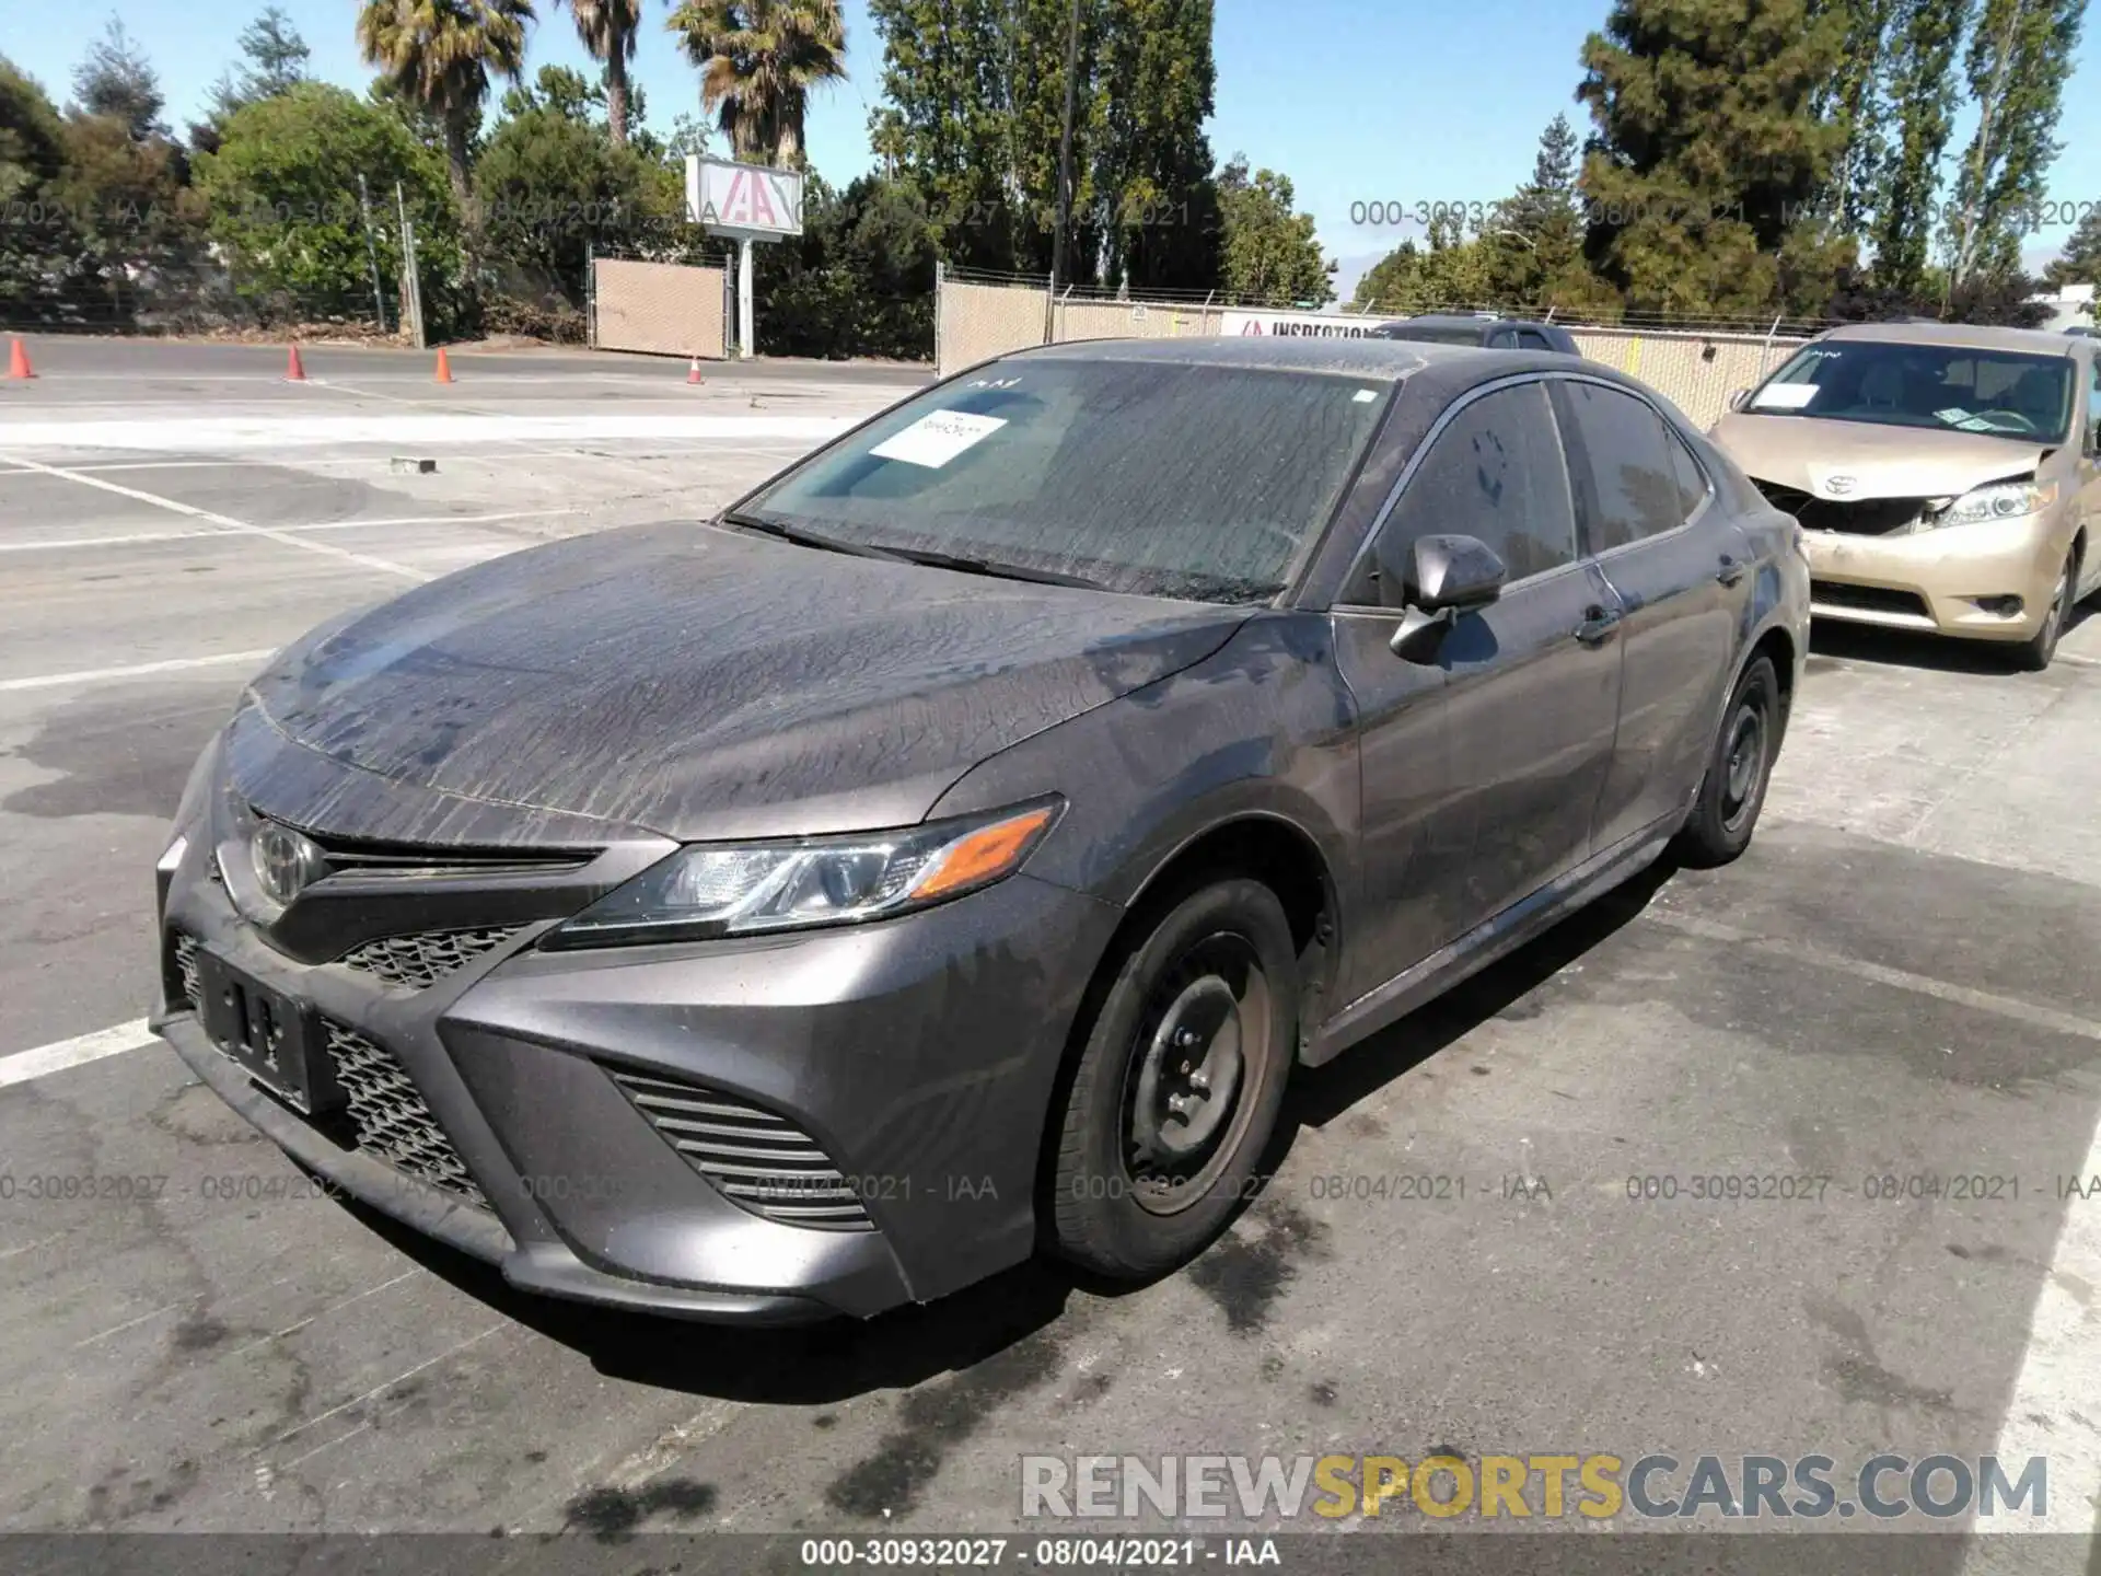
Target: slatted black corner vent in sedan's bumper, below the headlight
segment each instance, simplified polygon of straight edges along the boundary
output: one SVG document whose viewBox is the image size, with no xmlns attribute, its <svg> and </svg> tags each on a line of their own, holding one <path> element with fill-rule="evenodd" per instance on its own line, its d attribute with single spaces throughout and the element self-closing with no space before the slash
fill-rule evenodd
<svg viewBox="0 0 2101 1576">
<path fill-rule="evenodd" d="M 821 1231 L 876 1229 L 861 1187 L 786 1116 L 702 1084 L 607 1072 L 649 1126 L 737 1208 Z"/>
</svg>

